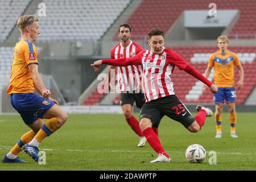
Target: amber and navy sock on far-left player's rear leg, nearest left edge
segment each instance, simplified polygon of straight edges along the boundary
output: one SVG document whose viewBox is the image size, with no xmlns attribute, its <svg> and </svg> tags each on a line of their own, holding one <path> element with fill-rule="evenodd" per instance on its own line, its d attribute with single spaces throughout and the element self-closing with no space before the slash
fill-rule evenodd
<svg viewBox="0 0 256 182">
<path fill-rule="evenodd" d="M 19 142 L 15 144 L 13 149 L 11 149 L 11 151 L 10 151 L 11 154 L 19 155 L 19 152 L 22 151 L 22 146 L 24 146 L 24 144 L 30 142 L 34 137 L 35 137 L 35 135 L 34 135 L 32 130 L 28 131 L 27 133 L 22 135 L 22 137 L 20 138 Z"/>
</svg>

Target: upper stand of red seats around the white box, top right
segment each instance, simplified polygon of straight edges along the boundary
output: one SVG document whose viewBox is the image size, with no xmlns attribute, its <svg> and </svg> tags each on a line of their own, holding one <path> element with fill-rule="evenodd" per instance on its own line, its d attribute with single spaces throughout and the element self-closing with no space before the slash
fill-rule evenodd
<svg viewBox="0 0 256 182">
<path fill-rule="evenodd" d="M 144 0 L 127 20 L 133 27 L 133 39 L 143 39 L 152 28 L 162 28 L 167 32 L 184 10 L 207 10 L 209 1 L 205 0 Z M 240 19 L 232 28 L 231 39 L 256 39 L 256 11 L 254 0 L 214 1 L 217 10 L 239 9 Z"/>
</svg>

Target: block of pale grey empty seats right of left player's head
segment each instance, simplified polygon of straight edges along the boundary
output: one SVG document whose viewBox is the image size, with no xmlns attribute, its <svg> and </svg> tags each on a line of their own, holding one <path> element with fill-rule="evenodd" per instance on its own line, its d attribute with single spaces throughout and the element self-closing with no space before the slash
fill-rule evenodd
<svg viewBox="0 0 256 182">
<path fill-rule="evenodd" d="M 131 0 L 44 0 L 46 17 L 39 17 L 38 41 L 98 40 Z"/>
</svg>

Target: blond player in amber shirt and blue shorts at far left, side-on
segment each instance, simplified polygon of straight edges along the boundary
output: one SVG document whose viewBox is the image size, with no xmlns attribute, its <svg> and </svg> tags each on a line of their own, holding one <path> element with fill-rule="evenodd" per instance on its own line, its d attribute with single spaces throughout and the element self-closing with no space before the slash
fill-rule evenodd
<svg viewBox="0 0 256 182">
<path fill-rule="evenodd" d="M 38 72 L 36 46 L 32 43 L 40 34 L 38 18 L 34 15 L 20 16 L 18 27 L 21 40 L 16 43 L 11 77 L 7 94 L 11 96 L 11 105 L 18 111 L 30 131 L 24 134 L 18 143 L 2 159 L 3 163 L 26 163 L 18 158 L 24 151 L 36 162 L 40 161 L 38 146 L 47 136 L 59 129 L 67 114 L 51 98 Z M 34 89 L 41 95 L 35 94 Z M 43 98 L 44 97 L 44 98 Z M 43 119 L 48 119 L 43 122 Z"/>
</svg>

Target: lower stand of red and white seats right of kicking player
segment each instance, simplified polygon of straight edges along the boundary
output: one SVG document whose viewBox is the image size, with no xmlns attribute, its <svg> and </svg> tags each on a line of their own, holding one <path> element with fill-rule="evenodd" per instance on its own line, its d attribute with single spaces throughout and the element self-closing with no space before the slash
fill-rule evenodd
<svg viewBox="0 0 256 182">
<path fill-rule="evenodd" d="M 196 68 L 201 73 L 204 73 L 207 68 L 209 54 L 217 51 L 216 47 L 170 47 L 175 52 L 179 53 L 189 64 L 191 64 L 194 68 Z M 244 72 L 245 72 L 245 80 L 243 89 L 237 90 L 237 104 L 243 104 L 246 98 L 249 96 L 254 86 L 256 85 L 255 78 L 255 69 L 256 69 L 256 61 L 255 61 L 255 52 L 256 47 L 254 46 L 236 46 L 229 47 L 230 51 L 237 52 L 238 58 L 241 60 Z M 184 55 L 184 56 L 183 56 Z M 197 58 L 197 59 L 195 59 Z M 213 70 L 212 70 L 213 71 Z M 239 74 L 238 69 L 234 68 L 235 74 L 235 82 L 238 81 Z M 213 94 L 210 93 L 210 90 L 207 88 L 203 94 L 200 94 L 200 97 L 196 96 L 196 94 L 200 93 L 199 84 L 196 84 L 197 80 L 193 78 L 191 75 L 188 75 L 184 71 L 180 71 L 175 68 L 174 75 L 172 76 L 172 81 L 174 82 L 174 90 L 177 97 L 180 98 L 181 101 L 185 103 L 213 103 Z M 199 86 L 197 89 L 192 89 L 193 86 Z M 191 90 L 194 90 L 191 92 Z M 190 95 L 190 96 L 189 96 Z M 187 97 L 186 97 L 187 96 Z M 187 99 L 189 98 L 189 100 Z"/>
</svg>

